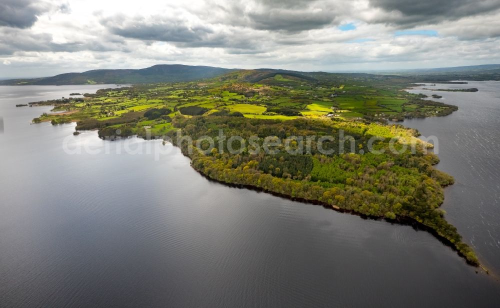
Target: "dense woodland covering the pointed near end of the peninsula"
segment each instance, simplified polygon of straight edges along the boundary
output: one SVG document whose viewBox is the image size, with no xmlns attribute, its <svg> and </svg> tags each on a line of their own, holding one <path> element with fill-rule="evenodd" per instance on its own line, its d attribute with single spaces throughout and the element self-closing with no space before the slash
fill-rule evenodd
<svg viewBox="0 0 500 308">
<path fill-rule="evenodd" d="M 286 138 L 289 134 L 315 136 L 337 135 L 339 130 L 355 138 L 355 151 L 343 154 L 324 155 L 314 150 L 296 154 L 287 153 L 284 144 L 275 148 L 272 155 L 263 152 L 252 153 L 243 147 L 235 155 L 227 149 L 199 148 L 186 142 L 178 142 L 176 134 L 169 133 L 173 143 L 182 153 L 189 156 L 192 166 L 209 178 L 220 182 L 250 186 L 330 208 L 385 218 L 388 221 L 414 223 L 423 226 L 441 238 L 466 258 L 467 262 L 478 265 L 473 250 L 461 240 L 456 228 L 444 219 L 445 212 L 439 209 L 443 201 L 443 186 L 453 183 L 453 178 L 432 167 L 439 159 L 432 153 L 424 154 L 421 143 L 417 143 L 415 154 L 409 150 L 394 154 L 389 148 L 391 137 L 398 137 L 398 149 L 411 142 L 415 131 L 402 126 L 382 126 L 378 124 L 344 123 L 336 121 L 296 119 L 293 121 L 244 119 L 238 117 L 175 117 L 173 126 L 181 128 L 183 134 L 193 139 L 211 136 L 217 140 L 217 129 L 227 135 L 241 135 L 248 139 L 257 135 L 258 145 L 263 145 L 265 136 L 277 135 Z M 215 129 L 217 128 L 217 129 Z M 385 136 L 387 140 L 375 144 L 383 154 L 367 152 L 367 140 L 372 136 Z M 329 140 L 323 148 L 340 152 L 339 140 Z M 344 143 L 347 147 L 348 142 Z M 230 145 L 239 148 L 239 143 Z M 292 149 L 298 149 L 292 143 Z"/>
</svg>

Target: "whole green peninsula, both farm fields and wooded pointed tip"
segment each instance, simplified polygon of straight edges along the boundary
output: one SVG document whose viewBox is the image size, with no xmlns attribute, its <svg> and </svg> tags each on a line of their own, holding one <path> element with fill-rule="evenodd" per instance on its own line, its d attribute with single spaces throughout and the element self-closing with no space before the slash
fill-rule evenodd
<svg viewBox="0 0 500 308">
<path fill-rule="evenodd" d="M 65 112 L 33 121 L 75 121 L 76 130 L 98 129 L 99 137 L 109 140 L 164 138 L 211 179 L 416 224 L 479 265 L 439 208 L 443 186 L 453 178 L 433 167 L 438 157 L 425 151 L 429 144 L 416 138 L 417 131 L 386 124 L 457 109 L 404 91 L 410 85 L 394 76 L 238 70 L 202 81 L 109 88 L 84 98 L 37 102 Z M 179 139 L 179 133 L 191 141 Z M 221 133 L 239 138 L 219 142 Z M 343 142 L 343 135 L 351 138 Z M 292 136 L 302 139 L 289 140 Z M 272 151 L 256 151 L 265 147 Z"/>
</svg>

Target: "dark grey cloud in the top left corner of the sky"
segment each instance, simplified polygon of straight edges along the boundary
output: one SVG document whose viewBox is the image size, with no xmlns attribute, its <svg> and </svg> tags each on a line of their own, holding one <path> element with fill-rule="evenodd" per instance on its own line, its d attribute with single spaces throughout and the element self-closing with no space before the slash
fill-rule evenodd
<svg viewBox="0 0 500 308">
<path fill-rule="evenodd" d="M 27 28 L 38 19 L 37 16 L 49 9 L 47 3 L 36 0 L 1 0 L 0 26 Z"/>
</svg>

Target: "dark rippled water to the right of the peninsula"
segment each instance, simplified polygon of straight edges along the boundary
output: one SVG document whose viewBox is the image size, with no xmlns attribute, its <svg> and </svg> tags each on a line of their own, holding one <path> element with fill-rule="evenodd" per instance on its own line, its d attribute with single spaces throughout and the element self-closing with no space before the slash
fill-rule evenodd
<svg viewBox="0 0 500 308">
<path fill-rule="evenodd" d="M 458 106 L 445 117 L 408 119 L 404 125 L 436 136 L 437 167 L 455 184 L 445 189 L 446 219 L 471 243 L 484 265 L 500 274 L 500 81 L 436 84 L 432 88 L 476 87 L 478 92 L 412 90 Z"/>
</svg>

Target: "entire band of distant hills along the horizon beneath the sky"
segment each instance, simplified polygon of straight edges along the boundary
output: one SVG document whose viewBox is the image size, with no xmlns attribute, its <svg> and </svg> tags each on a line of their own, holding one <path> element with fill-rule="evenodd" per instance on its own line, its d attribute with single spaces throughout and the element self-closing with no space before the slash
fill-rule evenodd
<svg viewBox="0 0 500 308">
<path fill-rule="evenodd" d="M 145 68 L 92 69 L 84 72 L 68 72 L 49 77 L 17 78 L 0 80 L 0 85 L 71 85 L 71 84 L 141 84 L 157 82 L 185 82 L 209 79 L 214 77 L 230 77 L 237 73 L 239 81 L 257 82 L 286 74 L 292 77 L 317 81 L 323 75 L 342 75 L 345 73 L 327 73 L 321 71 L 295 71 L 278 68 L 239 69 L 222 68 L 204 65 L 156 64 Z M 414 78 L 416 81 L 449 81 L 449 80 L 500 80 L 500 64 L 482 64 L 456 67 L 438 67 L 421 69 L 401 69 L 395 71 L 351 72 L 350 74 L 399 75 Z M 324 76 L 323 76 L 324 77 Z"/>
</svg>

